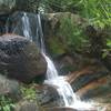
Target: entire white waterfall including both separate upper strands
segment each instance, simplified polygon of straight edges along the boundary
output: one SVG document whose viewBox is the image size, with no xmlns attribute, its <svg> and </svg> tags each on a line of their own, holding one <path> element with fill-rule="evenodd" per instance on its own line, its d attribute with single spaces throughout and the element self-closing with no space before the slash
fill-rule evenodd
<svg viewBox="0 0 111 111">
<path fill-rule="evenodd" d="M 41 42 L 41 52 L 42 52 L 43 57 L 46 58 L 46 61 L 48 62 L 47 80 L 44 81 L 44 83 L 58 87 L 57 91 L 60 94 L 60 97 L 62 97 L 65 107 L 71 107 L 74 109 L 90 109 L 91 103 L 85 103 L 85 102 L 80 101 L 80 99 L 77 98 L 75 93 L 73 93 L 71 85 L 64 80 L 63 77 L 60 77 L 58 74 L 54 63 L 46 54 L 40 14 L 37 16 L 37 22 L 38 22 L 37 23 L 38 24 L 37 36 L 38 36 L 38 31 L 39 31 L 40 32 L 39 33 L 40 42 Z M 28 18 L 27 13 L 24 13 L 22 17 L 22 28 L 23 28 L 24 37 L 27 37 L 29 40 L 32 40 L 30 22 L 29 22 L 29 18 Z"/>
</svg>

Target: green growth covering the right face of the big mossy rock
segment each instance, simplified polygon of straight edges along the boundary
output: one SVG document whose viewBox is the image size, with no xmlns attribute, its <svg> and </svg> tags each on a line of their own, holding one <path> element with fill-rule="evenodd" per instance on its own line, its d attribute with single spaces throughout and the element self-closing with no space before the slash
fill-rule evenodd
<svg viewBox="0 0 111 111">
<path fill-rule="evenodd" d="M 83 34 L 83 30 L 71 18 L 64 18 L 61 20 L 60 26 L 61 37 L 65 37 L 65 43 L 70 49 L 80 50 L 87 42 L 87 37 Z"/>
</svg>

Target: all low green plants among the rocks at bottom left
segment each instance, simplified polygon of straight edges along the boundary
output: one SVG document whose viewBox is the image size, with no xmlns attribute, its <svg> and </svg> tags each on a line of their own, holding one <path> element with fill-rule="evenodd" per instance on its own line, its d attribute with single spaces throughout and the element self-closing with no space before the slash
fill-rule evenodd
<svg viewBox="0 0 111 111">
<path fill-rule="evenodd" d="M 41 109 L 37 98 L 37 89 L 34 88 L 34 83 L 30 85 L 20 84 L 20 93 L 19 95 L 11 94 L 0 94 L 0 111 L 16 111 L 19 109 L 20 104 L 23 101 L 29 101 L 31 103 L 36 103 L 38 109 Z M 41 110 L 43 111 L 43 110 Z"/>
</svg>

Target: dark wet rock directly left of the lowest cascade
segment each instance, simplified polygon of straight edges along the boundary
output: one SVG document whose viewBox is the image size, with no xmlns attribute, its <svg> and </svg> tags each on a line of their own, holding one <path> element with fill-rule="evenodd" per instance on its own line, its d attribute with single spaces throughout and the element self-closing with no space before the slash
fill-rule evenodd
<svg viewBox="0 0 111 111">
<path fill-rule="evenodd" d="M 59 95 L 56 85 L 37 87 L 37 99 L 42 108 L 53 108 L 64 105 L 63 99 Z"/>
</svg>

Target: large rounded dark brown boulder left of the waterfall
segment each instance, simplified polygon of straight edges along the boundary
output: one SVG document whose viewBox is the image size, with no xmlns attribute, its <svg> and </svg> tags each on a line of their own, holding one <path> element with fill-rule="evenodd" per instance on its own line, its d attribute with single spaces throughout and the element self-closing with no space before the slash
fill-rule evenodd
<svg viewBox="0 0 111 111">
<path fill-rule="evenodd" d="M 23 37 L 0 37 L 0 72 L 11 79 L 30 82 L 44 75 L 47 62 L 37 46 Z"/>
</svg>

